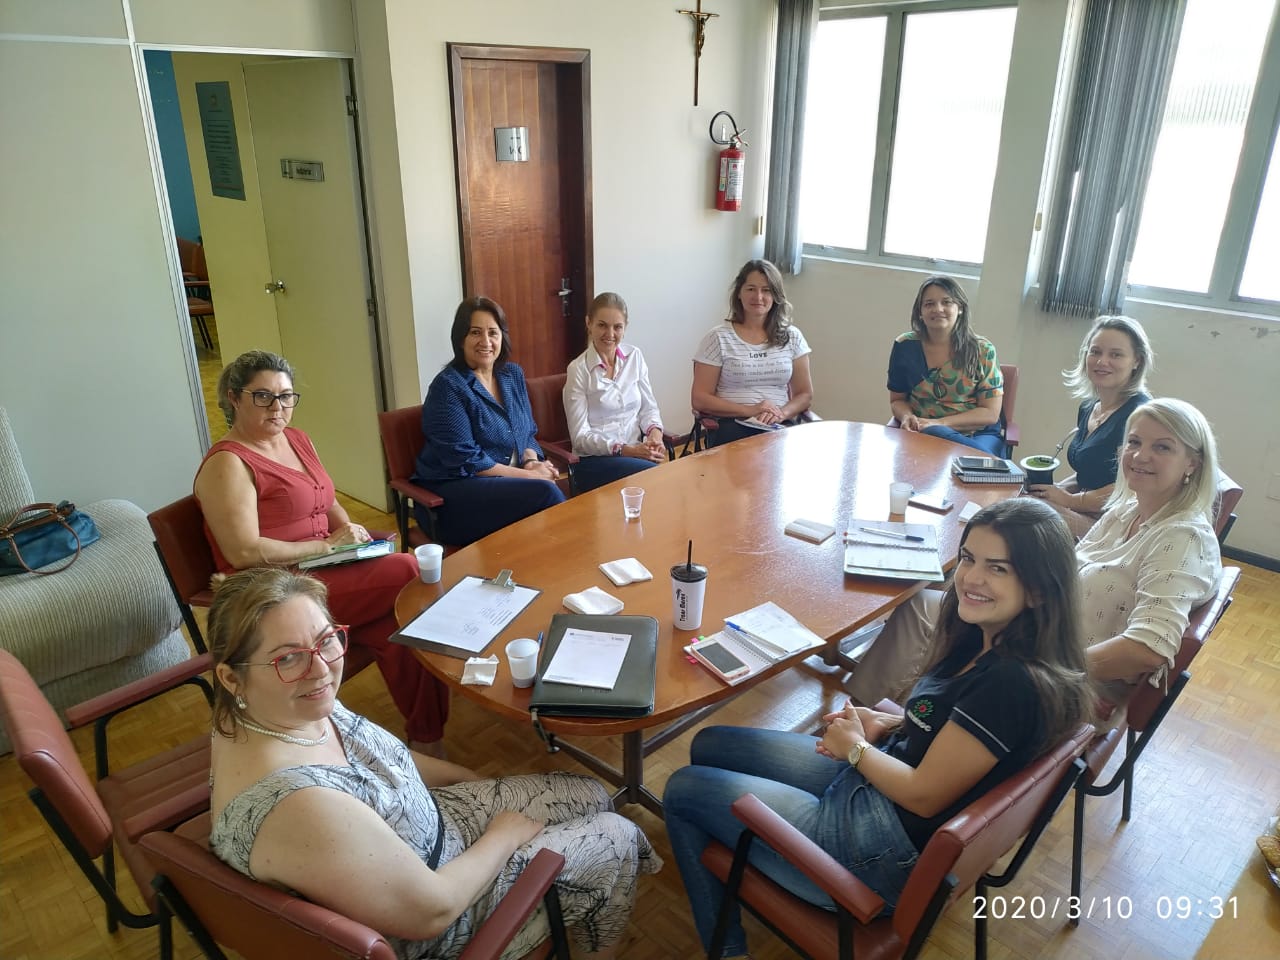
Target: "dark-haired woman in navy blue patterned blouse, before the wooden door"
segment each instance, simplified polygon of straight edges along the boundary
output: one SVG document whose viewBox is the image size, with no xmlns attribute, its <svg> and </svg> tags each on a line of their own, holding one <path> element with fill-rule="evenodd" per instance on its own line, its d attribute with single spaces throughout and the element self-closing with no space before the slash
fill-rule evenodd
<svg viewBox="0 0 1280 960">
<path fill-rule="evenodd" d="M 453 360 L 426 392 L 413 483 L 444 498 L 443 543 L 466 545 L 564 502 L 557 471 L 534 439 L 525 371 L 508 361 L 507 315 L 488 297 L 458 305 L 449 330 Z M 425 509 L 413 507 L 426 529 Z"/>
</svg>

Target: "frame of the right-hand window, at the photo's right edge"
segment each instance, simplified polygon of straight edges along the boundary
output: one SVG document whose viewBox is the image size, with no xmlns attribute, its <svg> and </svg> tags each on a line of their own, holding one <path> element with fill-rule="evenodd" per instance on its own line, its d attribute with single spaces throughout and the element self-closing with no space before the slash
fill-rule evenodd
<svg viewBox="0 0 1280 960">
<path fill-rule="evenodd" d="M 1235 169 L 1235 182 L 1226 205 L 1222 236 L 1217 243 L 1213 271 L 1210 274 L 1208 292 L 1197 293 L 1170 287 L 1129 284 L 1129 296 L 1139 300 L 1184 303 L 1188 306 L 1280 316 L 1280 301 L 1242 297 L 1240 278 L 1249 253 L 1253 220 L 1262 202 L 1267 160 L 1275 148 L 1280 127 L 1280 3 L 1271 15 L 1271 28 L 1262 49 L 1258 79 L 1253 88 L 1253 101 L 1244 123 L 1240 143 L 1240 161 Z M 1276 157 L 1280 164 L 1280 157 Z M 1280 177 L 1280 166 L 1274 174 Z"/>
</svg>

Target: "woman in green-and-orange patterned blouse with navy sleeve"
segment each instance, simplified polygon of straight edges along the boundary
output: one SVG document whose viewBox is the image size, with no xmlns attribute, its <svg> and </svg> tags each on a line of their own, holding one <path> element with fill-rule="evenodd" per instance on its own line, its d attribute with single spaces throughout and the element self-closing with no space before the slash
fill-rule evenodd
<svg viewBox="0 0 1280 960">
<path fill-rule="evenodd" d="M 950 276 L 931 276 L 911 305 L 911 329 L 888 355 L 888 406 L 904 430 L 1001 456 L 1005 381 L 996 348 L 969 326 L 969 300 Z"/>
</svg>

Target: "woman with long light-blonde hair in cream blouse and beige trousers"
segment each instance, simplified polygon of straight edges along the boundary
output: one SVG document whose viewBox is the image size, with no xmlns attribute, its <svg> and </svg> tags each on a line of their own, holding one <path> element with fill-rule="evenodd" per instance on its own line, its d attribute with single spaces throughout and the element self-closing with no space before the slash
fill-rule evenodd
<svg viewBox="0 0 1280 960">
<path fill-rule="evenodd" d="M 1129 415 L 1120 474 L 1102 518 L 1075 547 L 1089 676 L 1105 699 L 1160 685 L 1193 608 L 1217 591 L 1222 558 L 1213 534 L 1217 444 L 1204 415 L 1185 401 L 1147 401 Z M 910 686 L 928 659 L 933 590 L 899 607 L 849 678 L 874 704 Z"/>
</svg>

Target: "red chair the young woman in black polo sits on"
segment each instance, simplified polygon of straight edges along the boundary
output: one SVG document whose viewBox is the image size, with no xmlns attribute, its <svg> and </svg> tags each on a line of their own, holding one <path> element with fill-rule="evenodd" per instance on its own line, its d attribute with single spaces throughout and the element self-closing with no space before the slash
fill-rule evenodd
<svg viewBox="0 0 1280 960">
<path fill-rule="evenodd" d="M 884 901 L 879 896 L 755 795 L 739 797 L 732 809 L 746 829 L 737 849 L 712 842 L 703 851 L 703 864 L 727 884 L 707 956 L 721 955 L 733 900 L 812 960 L 916 956 L 947 904 L 970 886 L 986 896 L 988 887 L 1002 887 L 1014 878 L 1084 769 L 1079 758 L 1092 735 L 1093 726 L 1082 724 L 1057 748 L 940 827 L 920 851 L 891 916 L 881 915 Z M 989 873 L 1019 837 L 1024 840 L 1005 869 Z M 836 911 L 800 900 L 751 867 L 748 855 L 756 838 L 827 891 Z M 974 919 L 974 955 L 979 960 L 987 955 L 982 916 Z"/>
</svg>

